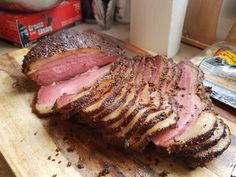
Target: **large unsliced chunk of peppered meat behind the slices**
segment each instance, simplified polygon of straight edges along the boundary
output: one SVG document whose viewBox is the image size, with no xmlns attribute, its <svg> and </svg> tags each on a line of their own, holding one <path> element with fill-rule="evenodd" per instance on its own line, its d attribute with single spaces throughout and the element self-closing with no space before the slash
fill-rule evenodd
<svg viewBox="0 0 236 177">
<path fill-rule="evenodd" d="M 62 30 L 43 38 L 28 52 L 22 71 L 38 85 L 49 85 L 120 57 L 124 51 L 99 34 Z"/>
</svg>

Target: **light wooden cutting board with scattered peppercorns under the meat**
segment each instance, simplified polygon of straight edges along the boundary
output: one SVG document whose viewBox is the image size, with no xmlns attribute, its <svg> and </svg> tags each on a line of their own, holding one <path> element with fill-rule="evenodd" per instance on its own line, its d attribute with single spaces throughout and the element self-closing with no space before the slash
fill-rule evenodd
<svg viewBox="0 0 236 177">
<path fill-rule="evenodd" d="M 0 56 L 0 150 L 17 177 L 230 176 L 230 165 L 236 162 L 236 125 L 228 120 L 230 147 L 206 167 L 189 170 L 154 151 L 129 153 L 107 146 L 76 121 L 39 119 L 30 106 L 37 88 L 21 74 L 27 51 Z"/>
</svg>

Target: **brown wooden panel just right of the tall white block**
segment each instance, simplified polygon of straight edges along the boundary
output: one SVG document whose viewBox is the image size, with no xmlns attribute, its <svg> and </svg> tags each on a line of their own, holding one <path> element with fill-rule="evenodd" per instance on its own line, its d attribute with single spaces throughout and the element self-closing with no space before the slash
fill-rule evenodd
<svg viewBox="0 0 236 177">
<path fill-rule="evenodd" d="M 216 29 L 222 0 L 189 0 L 183 41 L 206 48 L 216 41 Z"/>
</svg>

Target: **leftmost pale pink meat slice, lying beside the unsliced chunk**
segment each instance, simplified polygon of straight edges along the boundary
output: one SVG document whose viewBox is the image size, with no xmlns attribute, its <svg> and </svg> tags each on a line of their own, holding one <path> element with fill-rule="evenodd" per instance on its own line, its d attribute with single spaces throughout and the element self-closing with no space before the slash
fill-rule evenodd
<svg viewBox="0 0 236 177">
<path fill-rule="evenodd" d="M 108 74 L 110 67 L 111 65 L 102 68 L 94 68 L 70 80 L 53 83 L 48 86 L 41 86 L 37 93 L 35 111 L 38 114 L 54 112 L 53 106 L 60 96 L 63 94 L 75 94 L 82 89 L 88 88 L 96 80 Z"/>
</svg>

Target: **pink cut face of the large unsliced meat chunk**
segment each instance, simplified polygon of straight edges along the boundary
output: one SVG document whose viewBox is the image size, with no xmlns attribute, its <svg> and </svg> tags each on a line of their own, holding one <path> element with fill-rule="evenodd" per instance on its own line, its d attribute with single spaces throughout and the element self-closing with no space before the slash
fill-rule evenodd
<svg viewBox="0 0 236 177">
<path fill-rule="evenodd" d="M 117 58 L 102 53 L 74 53 L 39 66 L 30 77 L 38 85 L 49 85 L 86 72 L 94 66 L 104 66 Z"/>
</svg>

